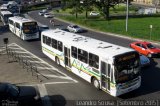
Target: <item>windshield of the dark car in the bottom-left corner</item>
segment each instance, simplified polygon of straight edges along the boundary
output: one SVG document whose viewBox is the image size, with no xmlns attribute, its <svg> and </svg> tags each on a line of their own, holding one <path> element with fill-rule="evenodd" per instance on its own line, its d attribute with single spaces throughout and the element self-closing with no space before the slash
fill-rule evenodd
<svg viewBox="0 0 160 106">
<path fill-rule="evenodd" d="M 12 85 L 12 84 L 7 84 L 6 91 L 7 91 L 7 93 L 10 94 L 10 96 L 13 96 L 13 97 L 17 97 L 20 92 L 19 88 L 15 85 Z"/>
</svg>

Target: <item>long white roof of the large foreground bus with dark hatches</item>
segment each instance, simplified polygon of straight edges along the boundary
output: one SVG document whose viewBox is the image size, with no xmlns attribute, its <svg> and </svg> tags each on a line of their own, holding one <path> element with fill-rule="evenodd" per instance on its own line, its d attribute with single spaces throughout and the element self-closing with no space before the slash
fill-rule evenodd
<svg viewBox="0 0 160 106">
<path fill-rule="evenodd" d="M 90 37 L 66 32 L 60 29 L 46 30 L 42 32 L 42 35 L 46 35 L 50 38 L 55 38 L 56 40 L 65 43 L 66 45 L 68 44 L 75 46 L 77 48 L 100 55 L 101 57 L 107 57 L 107 59 L 110 57 L 113 58 L 116 55 L 120 55 L 126 52 L 134 51 L 131 48 L 118 46 Z"/>
</svg>

